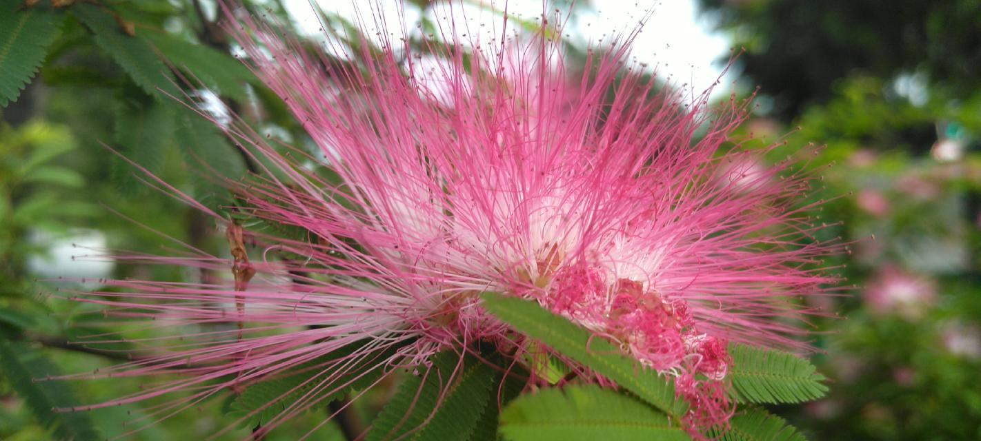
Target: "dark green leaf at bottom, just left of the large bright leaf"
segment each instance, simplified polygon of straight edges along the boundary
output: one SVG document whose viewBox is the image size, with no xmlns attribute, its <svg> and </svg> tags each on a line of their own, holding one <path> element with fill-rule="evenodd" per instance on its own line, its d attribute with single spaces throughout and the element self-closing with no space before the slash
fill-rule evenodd
<svg viewBox="0 0 981 441">
<path fill-rule="evenodd" d="M 459 355 L 442 352 L 428 372 L 407 377 L 376 418 L 368 441 L 471 439 L 485 408 L 496 406 L 491 386 L 498 376 L 473 356 L 464 357 L 460 367 L 459 362 Z"/>
</svg>

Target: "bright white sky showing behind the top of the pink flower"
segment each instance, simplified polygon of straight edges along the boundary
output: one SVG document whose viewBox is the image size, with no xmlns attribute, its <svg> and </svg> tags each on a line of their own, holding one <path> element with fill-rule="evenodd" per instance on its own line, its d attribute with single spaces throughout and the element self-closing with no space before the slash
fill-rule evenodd
<svg viewBox="0 0 981 441">
<path fill-rule="evenodd" d="M 308 0 L 287 0 L 284 3 L 303 31 L 318 31 L 320 23 L 313 15 Z M 394 0 L 385 2 L 382 13 L 389 24 L 398 20 L 398 3 Z M 465 3 L 482 2 L 469 0 Z M 483 4 L 491 5 L 497 10 L 503 10 L 505 3 L 509 13 L 527 20 L 533 20 L 542 14 L 542 0 L 483 1 Z M 319 4 L 325 11 L 335 12 L 346 18 L 355 17 L 354 0 L 319 0 Z M 591 6 L 597 4 L 598 6 Z M 367 6 L 361 8 L 362 13 L 370 13 L 365 10 Z M 694 0 L 594 0 L 577 12 L 569 29 L 572 32 L 568 33 L 573 33 L 575 40 L 584 43 L 597 41 L 603 35 L 632 29 L 649 8 L 653 8 L 653 13 L 634 45 L 633 55 L 637 61 L 645 63 L 649 69 L 656 69 L 662 77 L 670 77 L 676 85 L 694 85 L 696 92 L 711 85 L 725 67 L 716 61 L 728 57 L 730 46 L 723 35 L 711 33 L 710 24 L 697 18 Z M 480 8 L 464 10 L 470 19 L 482 17 L 478 19 L 479 23 L 499 23 L 493 14 L 487 11 L 482 13 Z M 411 11 L 405 19 L 414 23 L 418 20 L 418 14 Z M 490 33 L 490 28 L 492 26 L 485 27 L 485 32 Z M 723 78 L 713 95 L 728 90 L 732 80 L 729 76 Z"/>
</svg>

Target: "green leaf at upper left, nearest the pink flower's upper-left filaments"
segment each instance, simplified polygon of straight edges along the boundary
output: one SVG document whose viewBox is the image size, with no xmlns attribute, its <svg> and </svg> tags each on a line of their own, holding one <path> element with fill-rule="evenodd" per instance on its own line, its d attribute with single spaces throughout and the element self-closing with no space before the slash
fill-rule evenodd
<svg viewBox="0 0 981 441">
<path fill-rule="evenodd" d="M 246 83 L 259 79 L 231 54 L 222 53 L 203 44 L 194 44 L 163 32 L 147 31 L 143 36 L 177 69 L 191 73 L 213 91 L 245 102 Z"/>
</svg>

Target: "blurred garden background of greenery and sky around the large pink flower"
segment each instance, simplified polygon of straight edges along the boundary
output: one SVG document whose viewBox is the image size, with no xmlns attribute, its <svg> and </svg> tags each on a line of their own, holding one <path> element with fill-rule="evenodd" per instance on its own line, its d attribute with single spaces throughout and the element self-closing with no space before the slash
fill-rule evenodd
<svg viewBox="0 0 981 441">
<path fill-rule="evenodd" d="M 67 344 L 110 329 L 92 308 L 45 293 L 90 289 L 110 275 L 203 276 L 78 258 L 104 248 L 163 253 L 172 245 L 161 232 L 228 250 L 213 222 L 149 189 L 100 143 L 220 206 L 227 196 L 203 176 L 241 176 L 256 165 L 167 95 L 184 93 L 220 121 L 231 111 L 289 144 L 310 140 L 233 58 L 213 1 L 42 1 L 26 31 L 9 31 L 23 18 L 14 11 L 32 3 L 0 1 L 0 48 L 25 48 L 0 51 L 0 68 L 38 68 L 21 92 L 16 75 L 0 78 L 0 439 L 104 439 L 147 410 L 50 408 L 117 397 L 137 381 L 31 378 L 119 363 L 127 344 Z M 323 3 L 327 23 L 351 29 L 352 8 Z M 411 24 L 438 20 L 427 1 L 405 3 Z M 465 3 L 475 15 L 503 9 Z M 645 2 L 622 3 L 556 4 L 575 10 L 570 53 L 644 17 Z M 318 34 L 305 0 L 245 5 L 284 31 Z M 513 0 L 508 11 L 514 25 L 534 29 L 542 2 Z M 981 2 L 671 0 L 654 5 L 639 38 L 639 63 L 666 87 L 696 93 L 730 66 L 731 48 L 744 51 L 713 96 L 758 88 L 739 133 L 746 145 L 786 142 L 774 162 L 808 143 L 826 146 L 807 166 L 823 175 L 813 200 L 827 202 L 815 215 L 833 225 L 825 234 L 852 243 L 828 265 L 855 288 L 815 305 L 847 318 L 812 322 L 829 395 L 773 410 L 816 440 L 981 439 Z M 360 400 L 357 414 L 370 418 L 384 397 Z M 200 439 L 232 423 L 228 407 L 217 398 L 133 437 Z M 309 413 L 269 439 L 296 439 L 326 416 Z M 312 439 L 336 436 L 332 423 Z"/>
</svg>

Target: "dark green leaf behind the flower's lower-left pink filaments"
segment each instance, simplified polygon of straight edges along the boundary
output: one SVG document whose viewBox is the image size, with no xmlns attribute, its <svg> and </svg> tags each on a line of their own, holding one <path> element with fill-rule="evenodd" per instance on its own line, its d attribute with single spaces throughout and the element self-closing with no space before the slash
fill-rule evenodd
<svg viewBox="0 0 981 441">
<path fill-rule="evenodd" d="M 298 400 L 307 402 L 316 401 L 324 406 L 328 403 L 341 398 L 348 391 L 360 390 L 374 384 L 379 378 L 387 374 L 383 361 L 394 354 L 394 349 L 387 349 L 372 353 L 364 359 L 358 361 L 353 367 L 348 368 L 343 375 L 337 376 L 331 383 L 336 385 L 350 383 L 348 386 L 331 392 L 336 387 L 322 386 L 324 380 L 328 378 L 329 372 L 324 371 L 324 367 L 351 355 L 355 350 L 362 346 L 358 344 L 348 345 L 330 355 L 304 363 L 297 368 L 293 368 L 284 375 L 263 380 L 252 384 L 244 392 L 235 397 L 229 406 L 232 417 L 246 417 L 245 423 L 248 427 L 266 425 L 280 416 L 287 407 L 295 404 Z M 319 392 L 308 393 L 314 388 Z"/>
</svg>

